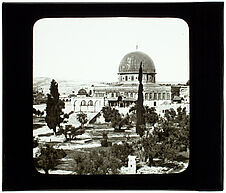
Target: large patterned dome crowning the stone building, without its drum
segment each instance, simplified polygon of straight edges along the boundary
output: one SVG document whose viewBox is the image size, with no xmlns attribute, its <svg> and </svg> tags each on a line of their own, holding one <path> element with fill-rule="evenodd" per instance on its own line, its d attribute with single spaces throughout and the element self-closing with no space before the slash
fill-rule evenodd
<svg viewBox="0 0 226 193">
<path fill-rule="evenodd" d="M 143 73 L 155 73 L 155 65 L 152 59 L 145 53 L 136 51 L 126 54 L 120 62 L 119 74 L 138 73 L 142 62 Z"/>
</svg>

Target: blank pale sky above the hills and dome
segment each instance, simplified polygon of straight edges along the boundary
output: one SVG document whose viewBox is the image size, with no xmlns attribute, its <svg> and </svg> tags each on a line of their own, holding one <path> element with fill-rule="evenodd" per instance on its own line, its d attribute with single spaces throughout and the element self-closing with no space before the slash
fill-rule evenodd
<svg viewBox="0 0 226 193">
<path fill-rule="evenodd" d="M 172 18 L 55 18 L 34 25 L 34 77 L 117 81 L 124 55 L 154 61 L 157 81 L 189 79 L 189 28 Z"/>
</svg>

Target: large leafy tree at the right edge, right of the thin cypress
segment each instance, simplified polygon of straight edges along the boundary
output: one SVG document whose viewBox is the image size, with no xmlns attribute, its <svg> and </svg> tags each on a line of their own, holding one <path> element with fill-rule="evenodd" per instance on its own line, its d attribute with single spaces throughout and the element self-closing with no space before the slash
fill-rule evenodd
<svg viewBox="0 0 226 193">
<path fill-rule="evenodd" d="M 154 130 L 140 140 L 145 161 L 153 165 L 153 158 L 175 160 L 180 151 L 189 147 L 190 117 L 185 108 L 168 109 L 160 117 Z"/>
</svg>

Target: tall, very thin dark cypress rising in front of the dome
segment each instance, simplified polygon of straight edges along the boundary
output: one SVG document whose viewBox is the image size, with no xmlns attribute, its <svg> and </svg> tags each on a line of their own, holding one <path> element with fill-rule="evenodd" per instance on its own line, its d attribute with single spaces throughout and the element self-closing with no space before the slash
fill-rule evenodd
<svg viewBox="0 0 226 193">
<path fill-rule="evenodd" d="M 142 84 L 142 62 L 140 63 L 140 69 L 139 69 L 139 88 L 138 88 L 138 99 L 136 103 L 136 115 L 137 115 L 137 123 L 136 123 L 136 133 L 138 133 L 141 137 L 144 134 L 145 130 L 145 120 L 144 120 L 144 97 L 143 97 L 143 84 Z"/>
</svg>

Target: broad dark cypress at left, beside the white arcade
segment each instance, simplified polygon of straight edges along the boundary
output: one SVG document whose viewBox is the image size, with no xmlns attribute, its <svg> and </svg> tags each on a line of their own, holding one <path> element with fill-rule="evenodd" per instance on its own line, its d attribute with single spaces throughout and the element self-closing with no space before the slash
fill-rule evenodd
<svg viewBox="0 0 226 193">
<path fill-rule="evenodd" d="M 56 127 L 60 127 L 60 123 L 63 122 L 62 109 L 64 108 L 64 102 L 59 99 L 58 84 L 55 80 L 52 80 L 50 85 L 50 94 L 47 94 L 46 103 L 46 123 L 50 129 L 53 129 L 56 134 Z"/>
</svg>

